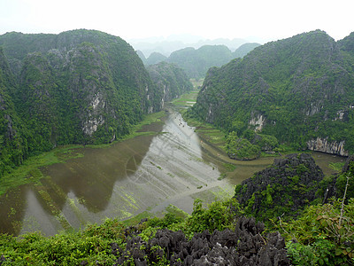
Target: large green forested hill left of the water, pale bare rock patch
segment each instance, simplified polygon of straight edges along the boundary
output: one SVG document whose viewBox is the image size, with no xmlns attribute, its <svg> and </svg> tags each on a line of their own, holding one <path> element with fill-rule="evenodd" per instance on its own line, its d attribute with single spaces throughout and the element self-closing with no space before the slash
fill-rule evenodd
<svg viewBox="0 0 354 266">
<path fill-rule="evenodd" d="M 163 92 L 134 49 L 95 30 L 0 35 L 0 173 L 56 145 L 108 143 Z"/>
</svg>

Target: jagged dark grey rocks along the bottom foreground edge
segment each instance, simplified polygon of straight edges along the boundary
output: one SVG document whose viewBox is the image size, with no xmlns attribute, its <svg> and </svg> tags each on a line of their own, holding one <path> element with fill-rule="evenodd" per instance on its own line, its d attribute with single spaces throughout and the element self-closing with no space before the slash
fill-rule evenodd
<svg viewBox="0 0 354 266">
<path fill-rule="evenodd" d="M 163 257 L 171 265 L 290 265 L 281 234 L 263 237 L 264 230 L 263 223 L 245 217 L 239 218 L 235 231 L 203 231 L 190 240 L 182 231 L 162 229 L 148 242 L 132 237 L 125 250 L 112 243 L 112 254 L 117 256 L 116 265 L 132 261 L 150 265 Z"/>
</svg>

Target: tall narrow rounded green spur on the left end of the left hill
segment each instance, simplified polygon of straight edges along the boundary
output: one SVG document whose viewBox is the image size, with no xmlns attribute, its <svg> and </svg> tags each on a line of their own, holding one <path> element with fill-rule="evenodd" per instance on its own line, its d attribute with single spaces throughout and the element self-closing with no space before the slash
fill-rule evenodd
<svg viewBox="0 0 354 266">
<path fill-rule="evenodd" d="M 16 90 L 16 106 L 22 123 L 31 132 L 27 139 L 30 151 L 49 151 L 56 144 L 57 88 L 48 61 L 41 53 L 29 53 Z"/>
</svg>

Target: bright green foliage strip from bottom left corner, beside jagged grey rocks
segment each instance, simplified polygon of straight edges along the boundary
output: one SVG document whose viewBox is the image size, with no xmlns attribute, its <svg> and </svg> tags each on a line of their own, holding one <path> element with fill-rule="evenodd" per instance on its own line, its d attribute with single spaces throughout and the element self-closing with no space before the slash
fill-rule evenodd
<svg viewBox="0 0 354 266">
<path fill-rule="evenodd" d="M 182 230 L 189 238 L 195 232 L 232 228 L 235 224 L 235 200 L 216 201 L 208 208 L 196 200 L 192 215 L 176 207 L 167 207 L 163 218 L 152 218 L 146 223 L 135 223 L 134 231 L 140 231 L 144 240 L 155 236 L 158 229 Z M 132 224 L 129 221 L 126 224 Z M 112 254 L 112 243 L 124 249 L 132 236 L 129 227 L 117 220 L 106 219 L 101 225 L 91 224 L 83 231 L 63 232 L 50 238 L 38 232 L 20 238 L 0 235 L 0 254 L 4 255 L 2 265 L 112 265 L 116 257 Z M 165 258 L 161 264 L 166 265 Z M 130 264 L 127 264 L 130 265 Z"/>
</svg>

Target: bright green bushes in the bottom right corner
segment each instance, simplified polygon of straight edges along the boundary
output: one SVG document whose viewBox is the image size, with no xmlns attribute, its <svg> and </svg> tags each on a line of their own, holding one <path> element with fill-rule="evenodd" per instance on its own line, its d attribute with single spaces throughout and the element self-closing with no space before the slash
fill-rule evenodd
<svg viewBox="0 0 354 266">
<path fill-rule="evenodd" d="M 354 264 L 354 199 L 311 206 L 296 221 L 278 223 L 295 265 Z M 342 218 L 341 218 L 342 217 Z"/>
</svg>

